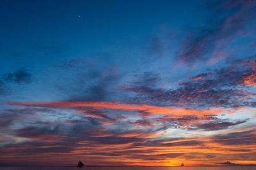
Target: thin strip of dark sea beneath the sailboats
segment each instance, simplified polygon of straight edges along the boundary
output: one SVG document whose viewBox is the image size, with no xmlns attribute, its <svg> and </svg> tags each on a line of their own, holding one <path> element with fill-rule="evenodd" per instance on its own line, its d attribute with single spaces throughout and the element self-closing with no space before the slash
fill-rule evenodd
<svg viewBox="0 0 256 170">
<path fill-rule="evenodd" d="M 256 166 L 229 167 L 0 167 L 0 170 L 256 170 Z"/>
</svg>

